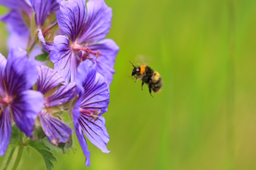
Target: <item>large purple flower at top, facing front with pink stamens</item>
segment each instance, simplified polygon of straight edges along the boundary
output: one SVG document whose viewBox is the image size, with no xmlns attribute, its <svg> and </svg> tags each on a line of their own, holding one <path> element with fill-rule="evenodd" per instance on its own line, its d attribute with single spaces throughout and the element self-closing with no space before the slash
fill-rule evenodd
<svg viewBox="0 0 256 170">
<path fill-rule="evenodd" d="M 57 23 L 67 36 L 56 36 L 50 52 L 54 69 L 61 70 L 66 82 L 75 81 L 78 65 L 85 59 L 96 59 L 97 70 L 106 83 L 112 82 L 113 66 L 119 47 L 109 33 L 112 8 L 104 0 L 70 0 L 61 2 Z M 103 40 L 102 40 L 103 39 Z M 98 59 L 99 57 L 99 59 Z"/>
</svg>

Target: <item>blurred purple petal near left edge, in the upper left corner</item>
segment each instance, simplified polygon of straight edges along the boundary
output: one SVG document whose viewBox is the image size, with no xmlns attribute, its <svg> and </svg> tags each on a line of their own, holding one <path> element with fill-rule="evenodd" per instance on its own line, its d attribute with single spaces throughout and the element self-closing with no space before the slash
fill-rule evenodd
<svg viewBox="0 0 256 170">
<path fill-rule="evenodd" d="M 19 36 L 26 36 L 29 32 L 29 28 L 26 26 L 22 19 L 22 14 L 18 10 L 13 9 L 8 14 L 0 16 L 0 20 L 6 23 L 11 33 L 16 32 Z"/>
</svg>

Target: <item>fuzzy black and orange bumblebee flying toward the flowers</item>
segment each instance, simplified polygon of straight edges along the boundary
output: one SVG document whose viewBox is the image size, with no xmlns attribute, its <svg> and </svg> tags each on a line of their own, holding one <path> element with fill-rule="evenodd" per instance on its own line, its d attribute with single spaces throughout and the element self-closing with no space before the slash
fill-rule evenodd
<svg viewBox="0 0 256 170">
<path fill-rule="evenodd" d="M 132 63 L 130 61 L 130 63 Z M 133 63 L 132 63 L 133 65 Z M 154 93 L 160 92 L 161 88 L 163 87 L 163 82 L 160 74 L 157 71 L 152 70 L 149 66 L 134 66 L 133 65 L 133 72 L 132 76 L 136 77 L 135 82 L 139 79 L 142 80 L 141 83 L 141 90 L 143 90 L 144 83 L 148 84 L 149 93 L 152 96 L 151 90 L 154 91 Z M 134 83 L 135 83 L 134 82 Z M 154 97 L 153 97 L 154 98 Z"/>
</svg>

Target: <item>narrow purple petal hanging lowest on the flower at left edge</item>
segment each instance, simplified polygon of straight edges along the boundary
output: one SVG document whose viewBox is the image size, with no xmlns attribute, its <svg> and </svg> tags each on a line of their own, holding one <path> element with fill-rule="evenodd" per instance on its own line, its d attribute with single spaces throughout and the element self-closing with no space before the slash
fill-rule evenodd
<svg viewBox="0 0 256 170">
<path fill-rule="evenodd" d="M 12 134 L 12 118 L 9 107 L 0 109 L 0 156 L 5 155 Z"/>
</svg>

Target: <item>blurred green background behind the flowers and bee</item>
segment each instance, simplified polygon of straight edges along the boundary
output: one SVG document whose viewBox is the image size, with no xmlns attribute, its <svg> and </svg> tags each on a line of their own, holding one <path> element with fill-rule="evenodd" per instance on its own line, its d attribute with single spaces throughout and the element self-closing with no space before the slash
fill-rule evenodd
<svg viewBox="0 0 256 170">
<path fill-rule="evenodd" d="M 88 142 L 86 168 L 75 138 L 77 151 L 55 154 L 55 169 L 256 169 L 256 1 L 106 3 L 113 9 L 108 37 L 120 47 L 104 114 L 112 152 Z M 1 23 L 4 54 L 6 34 Z M 154 99 L 130 76 L 129 60 L 139 54 L 163 78 Z M 19 169 L 46 166 L 25 151 Z"/>
</svg>

